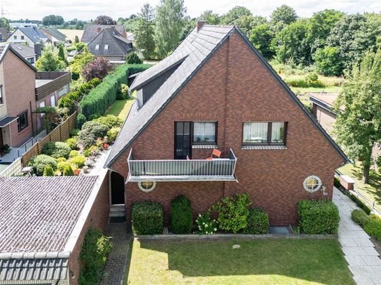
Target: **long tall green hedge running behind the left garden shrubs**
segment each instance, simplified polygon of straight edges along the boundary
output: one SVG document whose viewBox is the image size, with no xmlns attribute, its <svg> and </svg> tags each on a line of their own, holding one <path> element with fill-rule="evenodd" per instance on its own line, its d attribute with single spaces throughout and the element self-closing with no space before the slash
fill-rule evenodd
<svg viewBox="0 0 381 285">
<path fill-rule="evenodd" d="M 124 64 L 118 66 L 114 73 L 106 76 L 99 86 L 84 96 L 79 104 L 81 113 L 87 120 L 104 114 L 109 105 L 112 105 L 117 99 L 121 84 L 127 84 L 129 75 L 145 71 L 149 67 L 147 64 Z"/>
</svg>

